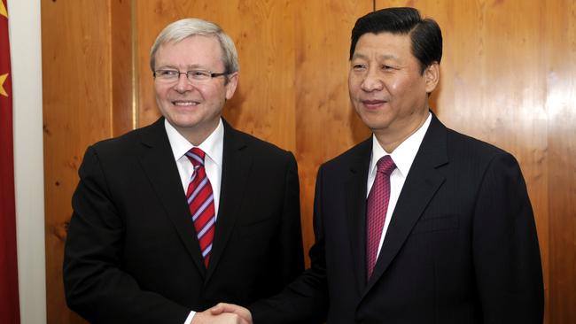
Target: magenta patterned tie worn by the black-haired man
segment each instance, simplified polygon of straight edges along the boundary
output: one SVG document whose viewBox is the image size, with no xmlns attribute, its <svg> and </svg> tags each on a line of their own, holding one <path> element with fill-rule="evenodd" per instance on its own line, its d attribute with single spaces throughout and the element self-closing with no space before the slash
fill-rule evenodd
<svg viewBox="0 0 576 324">
<path fill-rule="evenodd" d="M 370 280 L 378 259 L 378 245 L 384 229 L 388 200 L 390 200 L 390 174 L 396 168 L 389 155 L 380 158 L 376 165 L 378 170 L 368 195 L 368 217 L 366 219 L 367 280 Z"/>
</svg>

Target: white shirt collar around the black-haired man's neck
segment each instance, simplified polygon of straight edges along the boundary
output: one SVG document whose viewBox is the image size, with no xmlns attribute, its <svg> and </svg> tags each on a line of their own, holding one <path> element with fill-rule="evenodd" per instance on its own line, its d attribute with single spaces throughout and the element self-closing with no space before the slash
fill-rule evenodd
<svg viewBox="0 0 576 324">
<path fill-rule="evenodd" d="M 376 173 L 377 167 L 376 163 L 378 159 L 384 157 L 385 155 L 390 155 L 396 165 L 396 169 L 400 171 L 401 175 L 406 177 L 410 170 L 410 166 L 412 166 L 412 162 L 414 162 L 414 158 L 416 158 L 416 153 L 420 148 L 420 144 L 424 140 L 424 135 L 430 126 L 430 122 L 432 121 L 432 113 L 428 112 L 428 118 L 424 121 L 424 124 L 414 132 L 414 134 L 410 135 L 409 138 L 404 140 L 396 150 L 392 152 L 392 154 L 386 152 L 380 143 L 378 143 L 378 139 L 376 135 L 372 135 L 372 157 L 370 158 L 370 175 Z"/>
</svg>

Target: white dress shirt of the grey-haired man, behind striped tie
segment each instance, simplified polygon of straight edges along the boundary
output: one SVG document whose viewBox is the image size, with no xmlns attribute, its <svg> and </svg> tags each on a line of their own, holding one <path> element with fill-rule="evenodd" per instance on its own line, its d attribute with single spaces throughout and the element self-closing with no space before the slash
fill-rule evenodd
<svg viewBox="0 0 576 324">
<path fill-rule="evenodd" d="M 168 135 L 168 142 L 172 148 L 176 166 L 178 166 L 178 174 L 180 174 L 180 181 L 184 194 L 188 189 L 192 174 L 194 174 L 194 166 L 190 159 L 184 154 L 194 147 L 183 135 L 173 127 L 167 120 L 164 120 L 164 127 L 166 127 L 166 134 Z M 224 150 L 224 125 L 222 119 L 218 123 L 218 127 L 210 134 L 204 142 L 198 145 L 200 150 L 204 150 L 206 157 L 204 158 L 204 168 L 206 169 L 206 176 L 212 185 L 214 193 L 214 218 L 218 216 L 218 204 L 220 202 L 220 188 L 222 184 L 222 151 Z M 184 324 L 190 324 L 196 312 L 192 311 L 184 321 Z"/>
</svg>

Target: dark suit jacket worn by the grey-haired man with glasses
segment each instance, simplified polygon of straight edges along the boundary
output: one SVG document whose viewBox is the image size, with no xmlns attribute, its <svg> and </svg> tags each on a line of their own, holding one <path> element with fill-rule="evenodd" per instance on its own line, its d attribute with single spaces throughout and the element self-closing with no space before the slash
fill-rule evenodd
<svg viewBox="0 0 576 324">
<path fill-rule="evenodd" d="M 164 120 L 88 148 L 73 197 L 66 301 L 95 323 L 178 323 L 247 305 L 303 271 L 292 153 L 224 122 L 222 190 L 206 270 Z"/>
</svg>

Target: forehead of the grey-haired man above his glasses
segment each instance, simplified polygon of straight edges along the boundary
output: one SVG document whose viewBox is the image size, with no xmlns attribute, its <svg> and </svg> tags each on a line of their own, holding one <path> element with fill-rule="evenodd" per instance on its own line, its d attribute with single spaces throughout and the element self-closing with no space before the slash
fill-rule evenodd
<svg viewBox="0 0 576 324">
<path fill-rule="evenodd" d="M 156 52 L 156 66 L 222 67 L 222 48 L 215 36 L 192 35 L 165 42 Z"/>
</svg>

